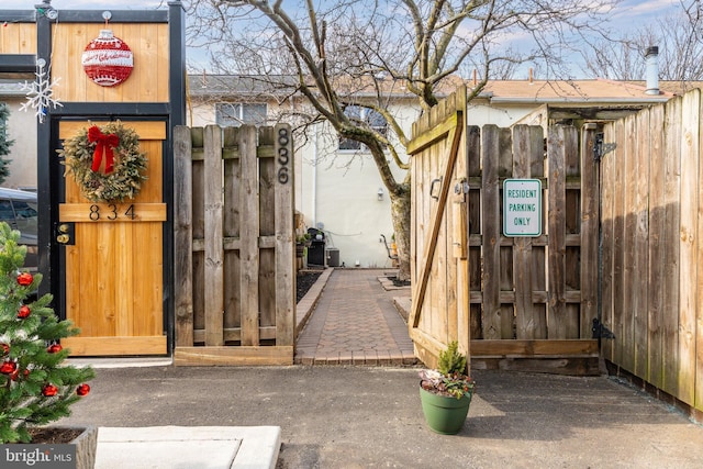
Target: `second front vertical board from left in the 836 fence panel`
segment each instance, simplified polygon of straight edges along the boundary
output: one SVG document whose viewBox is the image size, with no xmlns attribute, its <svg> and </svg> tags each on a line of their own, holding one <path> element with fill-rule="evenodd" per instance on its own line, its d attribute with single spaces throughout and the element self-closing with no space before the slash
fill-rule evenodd
<svg viewBox="0 0 703 469">
<path fill-rule="evenodd" d="M 205 181 L 222 180 L 222 131 L 219 125 L 205 127 Z M 205 183 L 205 345 L 224 344 L 223 261 L 222 246 L 222 189 Z"/>
</svg>

